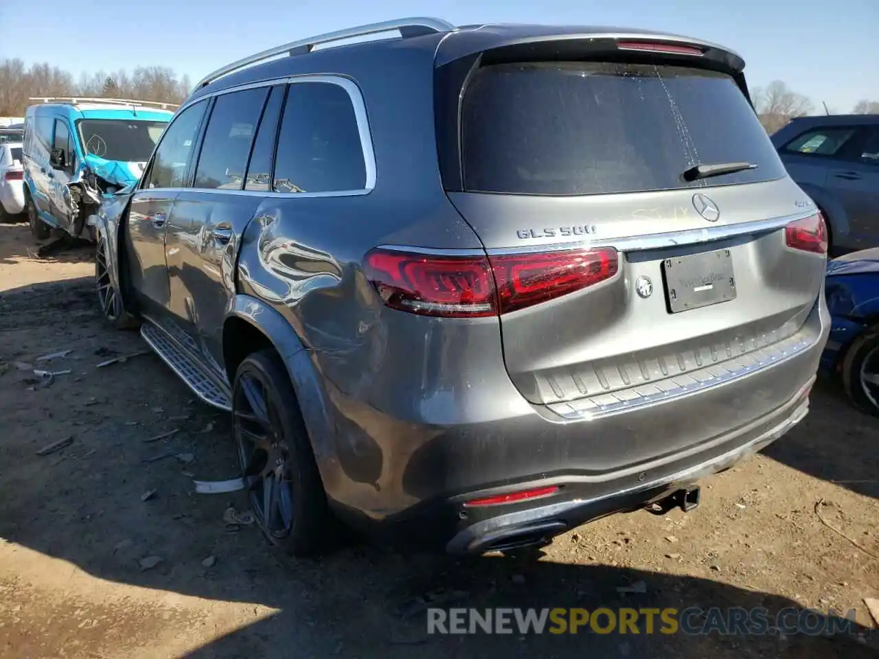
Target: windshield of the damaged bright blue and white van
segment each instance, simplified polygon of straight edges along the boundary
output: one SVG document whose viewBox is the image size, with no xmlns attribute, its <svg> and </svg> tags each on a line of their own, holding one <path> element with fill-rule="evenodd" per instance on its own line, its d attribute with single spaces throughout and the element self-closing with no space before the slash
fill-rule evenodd
<svg viewBox="0 0 879 659">
<path fill-rule="evenodd" d="M 123 163 L 145 163 L 162 135 L 164 121 L 81 119 L 79 135 L 87 154 Z"/>
</svg>

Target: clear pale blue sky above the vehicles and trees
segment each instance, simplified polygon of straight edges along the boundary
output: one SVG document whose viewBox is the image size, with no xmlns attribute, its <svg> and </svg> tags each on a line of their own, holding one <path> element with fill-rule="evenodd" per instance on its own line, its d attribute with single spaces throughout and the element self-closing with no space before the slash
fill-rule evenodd
<svg viewBox="0 0 879 659">
<path fill-rule="evenodd" d="M 311 34 L 388 18 L 436 16 L 458 25 L 622 25 L 681 33 L 737 50 L 748 62 L 745 73 L 752 87 L 783 80 L 809 96 L 817 109 L 825 101 L 832 111 L 847 112 L 861 98 L 879 100 L 877 0 L 147 0 L 132 4 L 35 0 L 2 4 L 0 58 L 49 62 L 76 76 L 84 70 L 161 65 L 189 74 L 195 82 L 223 64 Z M 47 18 L 56 12 L 67 18 Z M 53 29 L 62 25 L 70 29 Z M 75 34 L 83 37 L 75 42 Z"/>
</svg>

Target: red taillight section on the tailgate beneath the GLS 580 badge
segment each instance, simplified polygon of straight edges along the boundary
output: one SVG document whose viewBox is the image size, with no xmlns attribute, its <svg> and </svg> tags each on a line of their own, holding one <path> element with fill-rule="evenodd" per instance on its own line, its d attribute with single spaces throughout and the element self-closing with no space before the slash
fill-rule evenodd
<svg viewBox="0 0 879 659">
<path fill-rule="evenodd" d="M 619 267 L 616 250 L 563 250 L 489 257 L 505 314 L 610 279 Z"/>
</svg>

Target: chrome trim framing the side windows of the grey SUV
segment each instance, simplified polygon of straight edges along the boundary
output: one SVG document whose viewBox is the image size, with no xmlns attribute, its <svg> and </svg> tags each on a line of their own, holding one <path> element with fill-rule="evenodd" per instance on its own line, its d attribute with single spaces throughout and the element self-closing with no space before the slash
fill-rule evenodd
<svg viewBox="0 0 879 659">
<path fill-rule="evenodd" d="M 375 150 L 373 147 L 373 137 L 372 132 L 369 128 L 369 116 L 367 114 L 367 105 L 363 100 L 363 94 L 360 91 L 360 87 L 355 83 L 350 77 L 340 76 L 337 74 L 303 74 L 301 76 L 285 76 L 280 78 L 272 78 L 271 80 L 260 80 L 257 83 L 245 83 L 238 84 L 235 87 L 225 87 L 222 90 L 209 91 L 206 94 L 200 94 L 197 98 L 192 98 L 189 101 L 186 101 L 184 105 L 180 105 L 178 111 L 175 113 L 174 117 L 171 118 L 171 121 L 168 122 L 168 125 L 171 126 L 171 122 L 177 117 L 180 112 L 183 112 L 190 105 L 195 105 L 202 100 L 206 100 L 208 98 L 214 98 L 217 96 L 222 96 L 223 94 L 231 94 L 236 91 L 244 91 L 251 89 L 258 89 L 260 87 L 272 87 L 276 84 L 296 84 L 296 83 L 325 83 L 325 84 L 335 84 L 344 89 L 348 98 L 351 99 L 351 105 L 354 110 L 354 119 L 357 121 L 357 132 L 360 135 L 360 152 L 363 155 L 363 163 L 364 169 L 366 170 L 366 182 L 363 188 L 358 190 L 341 190 L 341 191 L 330 191 L 330 192 L 274 192 L 274 191 L 258 191 L 258 190 L 222 190 L 219 188 L 195 188 L 195 187 L 186 187 L 186 188 L 142 188 L 140 184 L 138 184 L 135 192 L 152 192 L 156 190 L 169 190 L 174 192 L 223 192 L 225 194 L 241 194 L 243 192 L 257 194 L 263 197 L 283 197 L 285 199 L 295 199 L 298 197 L 352 197 L 355 195 L 369 194 L 375 188 L 375 181 L 378 177 L 378 170 L 375 164 Z M 279 119 L 278 130 L 280 131 L 280 122 L 283 120 L 283 115 Z M 208 117 L 208 122 L 210 118 Z M 256 139 L 256 138 L 254 138 Z M 156 149 L 159 148 L 159 144 L 162 141 L 160 140 L 158 144 L 156 144 L 156 148 L 153 149 L 153 155 L 155 156 Z M 276 155 L 277 156 L 277 155 Z M 149 159 L 149 165 L 152 164 L 152 156 Z"/>
</svg>

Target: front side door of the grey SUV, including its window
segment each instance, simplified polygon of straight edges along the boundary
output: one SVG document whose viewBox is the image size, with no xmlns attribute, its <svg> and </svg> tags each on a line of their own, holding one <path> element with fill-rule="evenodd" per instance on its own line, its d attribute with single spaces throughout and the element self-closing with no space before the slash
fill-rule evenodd
<svg viewBox="0 0 879 659">
<path fill-rule="evenodd" d="M 165 262 L 165 230 L 185 185 L 207 101 L 190 105 L 173 119 L 134 192 L 128 213 L 129 272 L 143 308 L 157 321 L 168 314 L 170 285 Z"/>
</svg>

